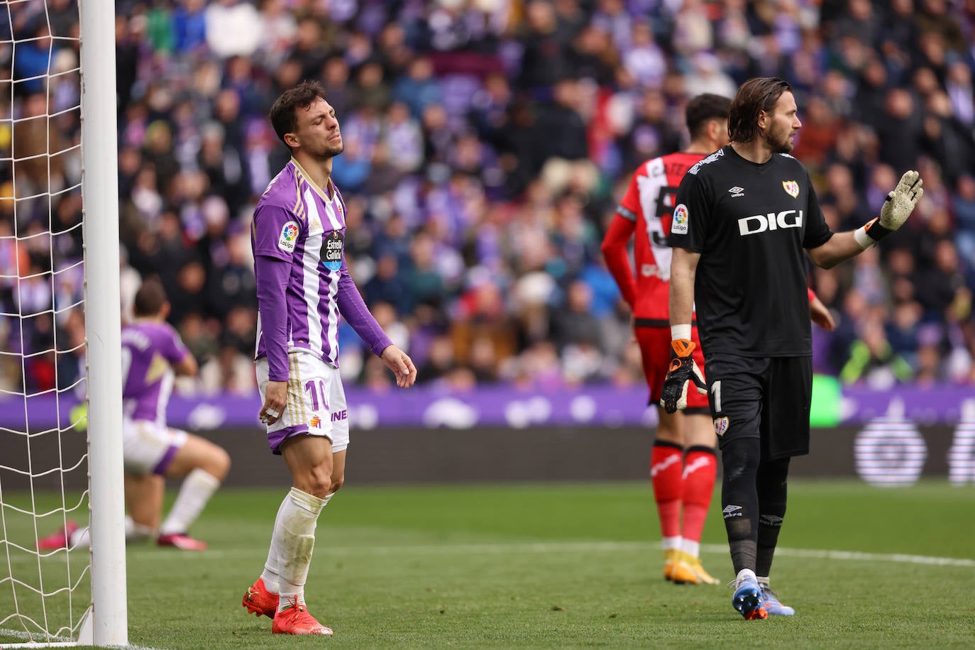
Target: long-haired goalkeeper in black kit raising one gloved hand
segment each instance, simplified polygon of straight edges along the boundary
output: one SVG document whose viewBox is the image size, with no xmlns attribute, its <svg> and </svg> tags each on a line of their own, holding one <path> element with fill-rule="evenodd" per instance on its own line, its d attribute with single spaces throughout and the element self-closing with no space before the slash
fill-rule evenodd
<svg viewBox="0 0 975 650">
<path fill-rule="evenodd" d="M 683 408 L 690 384 L 709 396 L 737 576 L 732 604 L 749 620 L 795 613 L 769 589 L 768 575 L 786 514 L 789 460 L 809 451 L 805 255 L 836 266 L 900 228 L 923 194 L 917 172 L 905 172 L 878 218 L 832 232 L 808 172 L 789 155 L 801 126 L 788 83 L 742 84 L 728 117 L 731 144 L 684 175 L 668 238 L 673 342 L 661 405 L 669 413 Z M 691 357 L 695 303 L 707 384 Z"/>
</svg>

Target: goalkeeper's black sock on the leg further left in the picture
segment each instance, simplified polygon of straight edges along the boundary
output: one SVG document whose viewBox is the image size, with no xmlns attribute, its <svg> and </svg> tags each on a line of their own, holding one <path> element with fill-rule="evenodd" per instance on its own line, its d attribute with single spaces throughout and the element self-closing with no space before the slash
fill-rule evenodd
<svg viewBox="0 0 975 650">
<path fill-rule="evenodd" d="M 757 438 L 727 440 L 722 444 L 722 516 L 731 563 L 737 574 L 756 568 L 758 553 L 759 472 L 761 444 Z"/>
</svg>

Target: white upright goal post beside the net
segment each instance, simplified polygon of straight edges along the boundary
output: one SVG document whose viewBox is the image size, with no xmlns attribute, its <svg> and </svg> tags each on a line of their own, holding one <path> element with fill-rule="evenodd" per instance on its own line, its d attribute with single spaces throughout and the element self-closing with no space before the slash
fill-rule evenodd
<svg viewBox="0 0 975 650">
<path fill-rule="evenodd" d="M 79 643 L 128 645 L 115 3 L 78 0 L 92 610 Z M 85 638 L 88 633 L 91 638 Z"/>
</svg>

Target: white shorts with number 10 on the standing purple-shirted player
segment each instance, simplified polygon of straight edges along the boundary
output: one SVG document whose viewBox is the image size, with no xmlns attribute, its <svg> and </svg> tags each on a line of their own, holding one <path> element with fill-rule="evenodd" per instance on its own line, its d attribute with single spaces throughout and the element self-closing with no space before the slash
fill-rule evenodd
<svg viewBox="0 0 975 650">
<path fill-rule="evenodd" d="M 281 453 L 281 443 L 293 436 L 324 436 L 332 451 L 349 446 L 349 415 L 345 389 L 338 368 L 310 352 L 288 353 L 288 402 L 277 422 L 267 427 L 271 451 Z M 260 403 L 267 391 L 267 358 L 258 359 L 257 390 Z"/>
</svg>

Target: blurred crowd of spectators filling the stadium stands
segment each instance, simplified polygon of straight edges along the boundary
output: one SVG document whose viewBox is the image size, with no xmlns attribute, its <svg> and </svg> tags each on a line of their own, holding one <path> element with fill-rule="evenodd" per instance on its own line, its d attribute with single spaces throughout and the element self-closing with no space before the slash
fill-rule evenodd
<svg viewBox="0 0 975 650">
<path fill-rule="evenodd" d="M 876 216 L 902 172 L 924 179 L 883 247 L 810 271 L 838 322 L 816 328 L 817 371 L 975 383 L 971 0 L 115 4 L 123 299 L 161 278 L 193 390 L 254 390 L 250 221 L 288 156 L 266 115 L 304 78 L 346 143 L 353 275 L 421 383 L 641 382 L 604 227 L 635 167 L 685 143 L 686 99 L 753 76 L 796 89 L 794 153 L 835 230 Z M 78 376 L 83 341 L 76 0 L 12 5 L 0 29 L 0 349 L 66 351 L 22 363 L 37 391 Z M 19 309 L 42 314 L 21 331 Z M 351 329 L 341 346 L 346 378 L 392 381 Z M 0 363 L 18 389 L 20 358 Z"/>
</svg>

